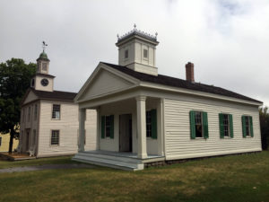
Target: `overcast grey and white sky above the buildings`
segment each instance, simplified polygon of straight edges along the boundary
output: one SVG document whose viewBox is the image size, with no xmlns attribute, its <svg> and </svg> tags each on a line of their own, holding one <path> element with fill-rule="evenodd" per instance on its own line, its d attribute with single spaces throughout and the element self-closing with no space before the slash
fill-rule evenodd
<svg viewBox="0 0 269 202">
<path fill-rule="evenodd" d="M 244 94 L 269 106 L 267 0 L 0 0 L 0 62 L 36 62 L 48 43 L 55 90 L 78 92 L 100 61 L 118 64 L 117 34 L 155 34 L 159 74 Z"/>
</svg>

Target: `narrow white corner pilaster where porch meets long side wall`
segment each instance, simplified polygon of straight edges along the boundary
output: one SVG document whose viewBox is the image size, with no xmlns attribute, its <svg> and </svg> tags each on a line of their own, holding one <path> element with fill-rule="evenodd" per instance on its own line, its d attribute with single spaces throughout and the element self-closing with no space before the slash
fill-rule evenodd
<svg viewBox="0 0 269 202">
<path fill-rule="evenodd" d="M 164 155 L 164 141 L 163 141 L 163 99 L 157 106 L 157 141 L 158 141 L 158 155 Z"/>
</svg>

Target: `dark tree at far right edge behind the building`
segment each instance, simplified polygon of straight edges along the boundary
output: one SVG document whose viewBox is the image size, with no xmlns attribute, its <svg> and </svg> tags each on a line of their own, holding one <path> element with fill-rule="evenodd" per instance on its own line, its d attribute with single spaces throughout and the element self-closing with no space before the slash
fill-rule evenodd
<svg viewBox="0 0 269 202">
<path fill-rule="evenodd" d="M 269 114 L 268 108 L 260 108 L 260 124 L 261 124 L 261 136 L 262 136 L 262 147 L 267 149 L 269 145 Z"/>
</svg>

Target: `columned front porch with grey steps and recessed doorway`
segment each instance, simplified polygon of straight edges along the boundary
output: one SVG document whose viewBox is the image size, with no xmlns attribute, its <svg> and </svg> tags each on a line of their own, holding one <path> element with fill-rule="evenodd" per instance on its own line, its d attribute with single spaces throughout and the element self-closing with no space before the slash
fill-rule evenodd
<svg viewBox="0 0 269 202">
<path fill-rule="evenodd" d="M 79 153 L 74 161 L 133 171 L 143 170 L 145 162 L 163 161 L 163 100 L 134 94 L 112 100 L 80 105 Z M 87 109 L 97 111 L 96 151 L 84 149 Z"/>
</svg>

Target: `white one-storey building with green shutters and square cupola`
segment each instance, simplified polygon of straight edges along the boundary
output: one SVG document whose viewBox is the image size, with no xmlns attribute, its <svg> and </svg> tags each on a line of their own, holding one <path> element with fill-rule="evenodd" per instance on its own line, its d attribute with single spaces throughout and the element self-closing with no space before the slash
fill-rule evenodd
<svg viewBox="0 0 269 202">
<path fill-rule="evenodd" d="M 159 75 L 158 44 L 134 28 L 117 40 L 118 65 L 100 62 L 84 83 L 74 99 L 80 109 L 74 160 L 141 170 L 145 163 L 261 151 L 262 102 L 195 83 L 192 63 L 186 80 Z M 97 111 L 95 151 L 83 144 L 86 110 Z"/>
</svg>

